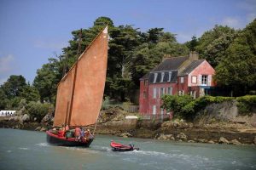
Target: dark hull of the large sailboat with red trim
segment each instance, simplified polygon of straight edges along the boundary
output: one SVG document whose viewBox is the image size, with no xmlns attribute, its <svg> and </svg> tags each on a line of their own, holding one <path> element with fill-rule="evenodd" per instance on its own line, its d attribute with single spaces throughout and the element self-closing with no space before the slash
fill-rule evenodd
<svg viewBox="0 0 256 170">
<path fill-rule="evenodd" d="M 54 133 L 50 133 L 49 131 L 46 132 L 47 142 L 49 144 L 54 144 L 57 146 L 83 146 L 83 147 L 89 147 L 93 139 L 88 140 L 76 140 L 74 138 L 65 138 L 65 137 L 59 137 L 58 135 Z"/>
</svg>

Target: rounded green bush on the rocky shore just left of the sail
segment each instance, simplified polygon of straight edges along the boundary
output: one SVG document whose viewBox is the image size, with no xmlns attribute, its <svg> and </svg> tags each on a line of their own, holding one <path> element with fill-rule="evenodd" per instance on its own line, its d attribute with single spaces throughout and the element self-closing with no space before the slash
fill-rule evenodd
<svg viewBox="0 0 256 170">
<path fill-rule="evenodd" d="M 41 122 L 47 113 L 54 110 L 54 107 L 49 103 L 42 104 L 32 101 L 26 105 L 26 110 L 32 118 L 36 118 L 37 122 Z"/>
</svg>

